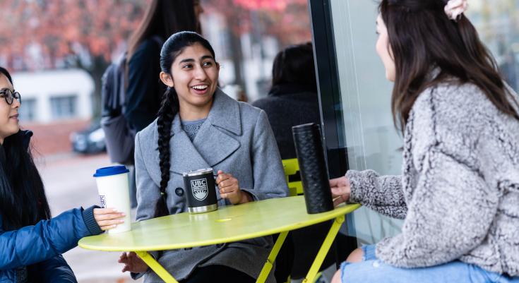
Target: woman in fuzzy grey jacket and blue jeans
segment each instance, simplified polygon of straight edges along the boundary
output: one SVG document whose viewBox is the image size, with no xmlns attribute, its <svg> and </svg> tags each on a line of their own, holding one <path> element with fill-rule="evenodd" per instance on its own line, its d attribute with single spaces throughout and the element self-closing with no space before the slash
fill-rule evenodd
<svg viewBox="0 0 519 283">
<path fill-rule="evenodd" d="M 350 200 L 404 219 L 402 233 L 350 255 L 338 282 L 519 282 L 516 95 L 464 0 L 383 0 L 376 50 L 395 82 L 402 176 L 347 172 Z"/>
</svg>

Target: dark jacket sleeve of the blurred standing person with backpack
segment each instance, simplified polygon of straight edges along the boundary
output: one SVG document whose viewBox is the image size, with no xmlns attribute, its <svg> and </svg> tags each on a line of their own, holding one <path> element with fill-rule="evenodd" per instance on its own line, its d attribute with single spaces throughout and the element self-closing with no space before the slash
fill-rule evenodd
<svg viewBox="0 0 519 283">
<path fill-rule="evenodd" d="M 128 62 L 124 117 L 136 131 L 141 131 L 157 117 L 161 96 L 158 66 L 160 47 L 154 40 L 141 43 Z"/>
</svg>

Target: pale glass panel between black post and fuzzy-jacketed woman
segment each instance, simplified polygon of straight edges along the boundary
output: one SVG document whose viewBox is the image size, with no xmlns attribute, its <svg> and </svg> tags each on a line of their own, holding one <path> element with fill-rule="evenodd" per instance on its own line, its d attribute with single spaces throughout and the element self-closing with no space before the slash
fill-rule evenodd
<svg viewBox="0 0 519 283">
<path fill-rule="evenodd" d="M 400 174 L 402 139 L 390 112 L 392 84 L 375 51 L 376 1 L 330 1 L 350 169 Z M 350 234 L 374 243 L 401 221 L 362 208 L 348 217 Z"/>
</svg>

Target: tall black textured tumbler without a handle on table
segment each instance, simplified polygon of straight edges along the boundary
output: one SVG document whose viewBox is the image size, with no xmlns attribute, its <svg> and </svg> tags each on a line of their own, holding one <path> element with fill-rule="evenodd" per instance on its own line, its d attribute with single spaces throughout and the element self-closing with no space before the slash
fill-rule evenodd
<svg viewBox="0 0 519 283">
<path fill-rule="evenodd" d="M 332 193 L 318 124 L 293 126 L 292 135 L 299 162 L 306 212 L 314 214 L 333 210 Z"/>
</svg>

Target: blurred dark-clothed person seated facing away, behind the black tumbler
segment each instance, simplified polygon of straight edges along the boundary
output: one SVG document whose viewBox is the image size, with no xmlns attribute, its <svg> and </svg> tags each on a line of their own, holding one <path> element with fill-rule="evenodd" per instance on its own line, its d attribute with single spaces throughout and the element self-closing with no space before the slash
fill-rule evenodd
<svg viewBox="0 0 519 283">
<path fill-rule="evenodd" d="M 292 126 L 321 124 L 311 42 L 292 45 L 275 56 L 268 97 L 252 104 L 267 113 L 281 158 L 296 158 Z M 320 223 L 290 232 L 276 260 L 275 275 L 278 282 L 283 282 L 280 280 L 286 279 L 288 275 L 294 279 L 304 278 L 330 226 L 331 223 Z M 336 239 L 335 248 L 341 259 L 357 247 L 353 237 L 338 234 Z M 335 250 L 332 248 L 321 270 L 335 263 L 335 260 Z"/>
</svg>

